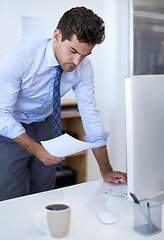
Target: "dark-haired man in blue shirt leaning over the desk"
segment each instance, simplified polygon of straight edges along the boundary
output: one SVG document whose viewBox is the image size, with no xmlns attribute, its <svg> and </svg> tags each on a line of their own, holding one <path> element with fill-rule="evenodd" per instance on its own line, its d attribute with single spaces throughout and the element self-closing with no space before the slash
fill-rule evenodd
<svg viewBox="0 0 164 240">
<path fill-rule="evenodd" d="M 104 40 L 104 22 L 91 10 L 67 11 L 53 39 L 31 41 L 4 56 L 0 65 L 0 200 L 54 188 L 56 164 L 40 144 L 51 139 L 53 81 L 63 69 L 60 96 L 73 89 L 85 129 L 104 181 L 126 182 L 126 173 L 113 171 L 104 145 L 108 133 L 95 106 L 92 66 L 87 56 Z"/>
</svg>

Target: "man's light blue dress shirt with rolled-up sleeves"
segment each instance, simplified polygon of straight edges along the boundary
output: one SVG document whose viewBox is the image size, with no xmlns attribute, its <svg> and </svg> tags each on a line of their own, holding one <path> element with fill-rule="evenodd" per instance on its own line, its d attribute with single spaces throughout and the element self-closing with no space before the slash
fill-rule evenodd
<svg viewBox="0 0 164 240">
<path fill-rule="evenodd" d="M 26 132 L 22 123 L 40 122 L 52 114 L 53 79 L 59 65 L 52 39 L 30 41 L 9 50 L 0 64 L 0 135 L 15 138 Z M 94 100 L 92 65 L 86 57 L 72 72 L 63 72 L 61 97 L 73 89 L 85 140 L 104 145 L 109 133 Z"/>
</svg>

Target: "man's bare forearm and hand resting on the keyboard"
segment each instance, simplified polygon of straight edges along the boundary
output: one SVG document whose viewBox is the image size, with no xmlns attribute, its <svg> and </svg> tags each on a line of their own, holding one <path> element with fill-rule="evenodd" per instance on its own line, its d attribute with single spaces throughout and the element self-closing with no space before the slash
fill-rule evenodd
<svg viewBox="0 0 164 240">
<path fill-rule="evenodd" d="M 106 146 L 94 148 L 93 154 L 98 162 L 101 175 L 105 182 L 118 183 L 118 179 L 123 179 L 127 183 L 127 174 L 120 171 L 113 171 L 109 158 Z"/>
</svg>

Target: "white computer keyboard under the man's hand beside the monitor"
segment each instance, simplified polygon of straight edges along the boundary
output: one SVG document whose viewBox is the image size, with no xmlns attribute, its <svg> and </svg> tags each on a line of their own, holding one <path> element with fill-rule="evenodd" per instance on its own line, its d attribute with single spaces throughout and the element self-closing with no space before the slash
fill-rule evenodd
<svg viewBox="0 0 164 240">
<path fill-rule="evenodd" d="M 125 183 L 119 183 L 118 185 L 109 189 L 109 191 L 103 192 L 103 195 L 127 197 L 127 185 Z"/>
</svg>

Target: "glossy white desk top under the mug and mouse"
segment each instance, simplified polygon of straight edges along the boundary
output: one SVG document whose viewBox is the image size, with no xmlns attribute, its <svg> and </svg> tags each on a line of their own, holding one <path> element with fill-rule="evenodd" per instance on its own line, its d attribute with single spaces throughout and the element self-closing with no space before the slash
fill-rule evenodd
<svg viewBox="0 0 164 240">
<path fill-rule="evenodd" d="M 66 240 L 144 240 L 144 236 L 133 231 L 133 202 L 120 197 L 102 196 L 102 191 L 111 183 L 101 179 L 71 187 L 52 190 L 0 202 L 1 240 L 52 240 L 35 223 L 38 212 L 53 201 L 65 201 L 72 207 L 71 227 Z M 100 222 L 96 212 L 113 210 L 117 222 L 105 225 Z M 163 213 L 164 216 L 164 213 Z M 164 220 L 164 219 L 163 219 Z M 163 231 L 149 237 L 149 240 L 164 239 Z"/>
</svg>

